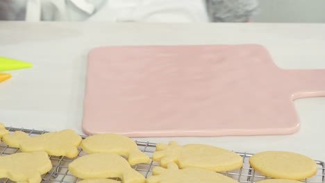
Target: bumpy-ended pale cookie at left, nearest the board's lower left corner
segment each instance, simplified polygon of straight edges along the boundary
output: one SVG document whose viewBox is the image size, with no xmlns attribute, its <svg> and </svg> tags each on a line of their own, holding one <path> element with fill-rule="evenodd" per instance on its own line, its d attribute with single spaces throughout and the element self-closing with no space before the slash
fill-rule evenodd
<svg viewBox="0 0 325 183">
<path fill-rule="evenodd" d="M 3 141 L 9 146 L 20 148 L 22 152 L 46 151 L 49 155 L 76 157 L 81 137 L 74 130 L 49 132 L 38 137 L 29 137 L 28 134 L 16 131 L 3 136 Z"/>
</svg>

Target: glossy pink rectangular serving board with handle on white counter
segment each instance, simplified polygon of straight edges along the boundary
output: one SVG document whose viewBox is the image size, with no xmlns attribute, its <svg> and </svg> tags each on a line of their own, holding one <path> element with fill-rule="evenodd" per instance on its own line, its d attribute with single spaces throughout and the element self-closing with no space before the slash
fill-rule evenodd
<svg viewBox="0 0 325 183">
<path fill-rule="evenodd" d="M 85 134 L 291 134 L 293 100 L 325 96 L 325 69 L 283 70 L 260 45 L 108 46 L 90 51 Z"/>
</svg>

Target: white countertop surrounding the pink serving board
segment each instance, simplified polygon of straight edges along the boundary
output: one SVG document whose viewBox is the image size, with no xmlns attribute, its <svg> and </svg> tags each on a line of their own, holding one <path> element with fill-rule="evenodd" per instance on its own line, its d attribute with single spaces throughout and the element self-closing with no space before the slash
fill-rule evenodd
<svg viewBox="0 0 325 183">
<path fill-rule="evenodd" d="M 32 62 L 0 83 L 6 126 L 81 130 L 88 51 L 110 45 L 263 44 L 283 69 L 325 69 L 325 24 L 103 24 L 0 21 L 0 55 Z M 325 85 L 325 83 L 324 83 Z M 165 137 L 142 141 L 205 143 L 258 153 L 290 150 L 325 161 L 325 97 L 294 102 L 296 134 L 258 137 Z M 323 134 L 324 133 L 324 134 Z"/>
</svg>

